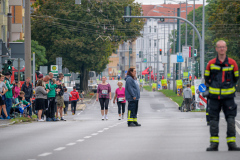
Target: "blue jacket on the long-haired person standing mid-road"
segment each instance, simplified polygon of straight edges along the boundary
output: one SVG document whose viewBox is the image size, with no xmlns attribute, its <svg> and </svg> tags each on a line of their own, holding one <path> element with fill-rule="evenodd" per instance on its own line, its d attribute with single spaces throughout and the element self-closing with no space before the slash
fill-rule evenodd
<svg viewBox="0 0 240 160">
<path fill-rule="evenodd" d="M 125 78 L 125 97 L 127 101 L 134 101 L 133 98 L 136 97 L 136 100 L 140 99 L 140 89 L 137 83 L 137 80 L 134 80 L 131 76 L 127 75 Z"/>
</svg>

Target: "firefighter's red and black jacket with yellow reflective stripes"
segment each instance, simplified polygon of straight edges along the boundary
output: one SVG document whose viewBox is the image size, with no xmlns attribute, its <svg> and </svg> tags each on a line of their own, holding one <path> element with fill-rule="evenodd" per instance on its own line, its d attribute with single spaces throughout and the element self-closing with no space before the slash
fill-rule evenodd
<svg viewBox="0 0 240 160">
<path fill-rule="evenodd" d="M 227 99 L 235 97 L 235 85 L 239 79 L 235 60 L 226 57 L 224 62 L 217 58 L 209 61 L 205 70 L 205 80 L 209 84 L 209 98 Z"/>
</svg>

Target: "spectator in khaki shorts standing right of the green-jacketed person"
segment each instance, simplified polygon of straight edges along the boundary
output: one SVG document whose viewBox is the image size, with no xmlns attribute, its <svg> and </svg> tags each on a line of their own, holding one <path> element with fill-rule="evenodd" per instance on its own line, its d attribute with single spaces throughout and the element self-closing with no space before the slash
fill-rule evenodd
<svg viewBox="0 0 240 160">
<path fill-rule="evenodd" d="M 66 121 L 63 118 L 63 105 L 64 105 L 64 99 L 63 99 L 63 94 L 64 94 L 64 90 L 62 87 L 62 80 L 64 78 L 64 75 L 62 73 L 59 73 L 58 75 L 58 85 L 56 88 L 57 94 L 56 94 L 56 101 L 57 101 L 57 112 L 56 112 L 56 117 L 57 117 L 57 121 L 59 121 L 60 119 L 58 118 L 58 112 L 60 112 L 60 117 L 61 117 L 61 121 Z"/>
</svg>

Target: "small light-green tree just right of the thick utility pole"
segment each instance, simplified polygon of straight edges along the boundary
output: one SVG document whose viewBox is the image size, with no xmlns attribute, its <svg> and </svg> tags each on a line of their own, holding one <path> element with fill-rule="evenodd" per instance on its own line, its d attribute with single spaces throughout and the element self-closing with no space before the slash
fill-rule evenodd
<svg viewBox="0 0 240 160">
<path fill-rule="evenodd" d="M 16 42 L 24 42 L 24 40 L 17 40 Z M 31 40 L 31 51 L 32 54 L 35 52 L 36 70 L 39 69 L 39 66 L 47 64 L 48 61 L 46 59 L 46 48 L 44 46 L 39 45 L 37 41 Z"/>
</svg>

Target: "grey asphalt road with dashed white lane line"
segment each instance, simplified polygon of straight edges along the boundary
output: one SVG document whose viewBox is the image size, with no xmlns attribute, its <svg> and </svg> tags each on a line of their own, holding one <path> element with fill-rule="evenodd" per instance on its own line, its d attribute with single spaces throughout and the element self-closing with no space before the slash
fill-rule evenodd
<svg viewBox="0 0 240 160">
<path fill-rule="evenodd" d="M 116 83 L 110 81 L 113 91 Z M 227 151 L 225 120 L 220 121 L 220 151 L 206 152 L 205 113 L 181 113 L 159 92 L 141 93 L 141 127 L 128 128 L 126 115 L 119 121 L 112 101 L 108 121 L 101 120 L 95 101 L 66 119 L 0 128 L 0 160 L 239 160 L 239 152 Z"/>
</svg>

